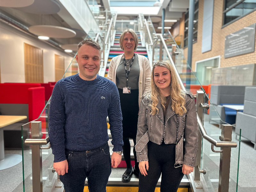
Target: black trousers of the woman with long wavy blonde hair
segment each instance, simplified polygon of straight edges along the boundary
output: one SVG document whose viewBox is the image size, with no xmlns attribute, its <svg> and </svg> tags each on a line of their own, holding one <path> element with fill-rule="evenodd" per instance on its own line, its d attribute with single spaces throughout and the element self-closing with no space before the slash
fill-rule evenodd
<svg viewBox="0 0 256 192">
<path fill-rule="evenodd" d="M 148 142 L 148 175 L 139 176 L 139 192 L 154 192 L 161 178 L 161 192 L 177 192 L 184 174 L 182 167 L 174 168 L 176 144 L 161 145 Z"/>
</svg>

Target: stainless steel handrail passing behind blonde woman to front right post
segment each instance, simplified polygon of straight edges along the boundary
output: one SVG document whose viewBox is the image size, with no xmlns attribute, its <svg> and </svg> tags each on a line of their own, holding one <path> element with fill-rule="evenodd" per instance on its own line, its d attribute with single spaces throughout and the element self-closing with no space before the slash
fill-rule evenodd
<svg viewBox="0 0 256 192">
<path fill-rule="evenodd" d="M 164 45 L 164 49 L 165 49 L 165 51 L 167 53 L 167 56 L 168 56 L 169 60 L 171 61 L 172 66 L 174 67 L 176 76 L 177 76 L 178 81 L 180 83 L 180 87 L 181 87 L 182 91 L 186 91 L 186 88 L 185 88 L 184 84 L 182 83 L 182 81 L 180 79 L 180 75 L 179 75 L 179 73 L 178 73 L 178 71 L 177 71 L 177 69 L 176 69 L 176 67 L 175 67 L 175 65 L 173 63 L 171 54 L 170 54 L 170 52 L 169 52 L 169 50 L 168 50 L 168 48 L 167 48 L 167 46 L 165 44 L 164 37 L 163 37 L 162 34 L 159 34 L 159 36 L 160 36 L 160 39 L 161 39 L 161 41 L 162 41 L 162 43 Z M 217 140 L 213 139 L 212 137 L 210 137 L 209 135 L 207 135 L 207 133 L 206 133 L 206 131 L 204 129 L 204 126 L 203 126 L 203 124 L 202 124 L 202 122 L 201 122 L 201 120 L 200 120 L 200 118 L 199 118 L 197 113 L 196 113 L 196 115 L 197 115 L 197 124 L 198 124 L 198 127 L 199 127 L 199 131 L 200 131 L 202 137 L 205 140 L 210 142 L 215 147 L 232 147 L 232 148 L 236 148 L 237 147 L 237 143 L 234 142 L 234 141 L 217 141 Z"/>
</svg>

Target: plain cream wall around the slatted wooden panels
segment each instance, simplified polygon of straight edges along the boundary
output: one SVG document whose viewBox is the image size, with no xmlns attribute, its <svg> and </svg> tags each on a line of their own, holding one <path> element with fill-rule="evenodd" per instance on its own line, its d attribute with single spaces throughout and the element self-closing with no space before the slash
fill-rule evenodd
<svg viewBox="0 0 256 192">
<path fill-rule="evenodd" d="M 25 83 L 24 43 L 43 49 L 44 83 L 55 81 L 54 54 L 65 58 L 65 69 L 73 59 L 65 52 L 0 22 L 1 83 Z"/>
</svg>

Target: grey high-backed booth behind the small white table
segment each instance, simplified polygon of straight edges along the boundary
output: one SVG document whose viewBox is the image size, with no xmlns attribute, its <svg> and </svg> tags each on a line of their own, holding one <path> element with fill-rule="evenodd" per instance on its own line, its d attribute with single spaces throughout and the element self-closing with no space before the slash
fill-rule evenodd
<svg viewBox="0 0 256 192">
<path fill-rule="evenodd" d="M 212 103 L 210 104 L 209 113 L 210 123 L 224 124 L 227 116 L 225 108 L 222 105 L 243 104 L 244 91 L 245 86 L 243 85 L 211 85 L 210 100 Z M 220 116 L 216 113 L 213 106 Z"/>
</svg>

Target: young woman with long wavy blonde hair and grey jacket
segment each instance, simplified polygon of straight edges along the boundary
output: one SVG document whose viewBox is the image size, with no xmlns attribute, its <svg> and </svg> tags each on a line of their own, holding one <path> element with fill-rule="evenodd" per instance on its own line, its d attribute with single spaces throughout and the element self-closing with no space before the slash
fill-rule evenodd
<svg viewBox="0 0 256 192">
<path fill-rule="evenodd" d="M 156 62 L 138 119 L 139 192 L 154 192 L 161 173 L 161 192 L 177 192 L 196 164 L 197 129 L 194 96 L 181 91 L 170 63 Z"/>
</svg>

